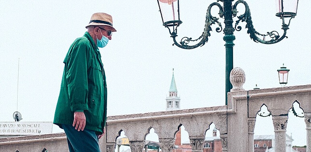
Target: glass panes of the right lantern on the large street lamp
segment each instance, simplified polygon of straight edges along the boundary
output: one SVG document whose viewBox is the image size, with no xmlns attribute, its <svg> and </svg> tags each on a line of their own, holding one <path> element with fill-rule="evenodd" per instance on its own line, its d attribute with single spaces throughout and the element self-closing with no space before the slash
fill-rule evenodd
<svg viewBox="0 0 311 152">
<path fill-rule="evenodd" d="M 297 13 L 297 6 L 298 6 L 298 0 L 276 0 L 277 13 L 282 13 L 282 12 Z"/>
</svg>

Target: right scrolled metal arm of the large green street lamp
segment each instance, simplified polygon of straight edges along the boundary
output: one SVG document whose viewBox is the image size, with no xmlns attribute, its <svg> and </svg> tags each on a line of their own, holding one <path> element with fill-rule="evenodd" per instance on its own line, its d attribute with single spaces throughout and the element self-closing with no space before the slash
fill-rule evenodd
<svg viewBox="0 0 311 152">
<path fill-rule="evenodd" d="M 271 32 L 267 32 L 267 34 L 260 34 L 258 33 L 255 29 L 254 29 L 254 26 L 253 26 L 253 21 L 252 21 L 252 17 L 251 17 L 251 13 L 250 13 L 250 10 L 249 10 L 249 7 L 248 7 L 248 4 L 244 1 L 244 0 L 239 0 L 237 2 L 235 2 L 234 6 L 233 6 L 233 12 L 236 12 L 237 9 L 237 5 L 239 3 L 243 3 L 244 6 L 245 6 L 245 12 L 244 14 L 238 16 L 238 19 L 235 23 L 235 29 L 237 31 L 240 31 L 242 29 L 241 26 L 238 26 L 239 25 L 239 22 L 242 21 L 242 22 L 246 22 L 246 27 L 248 30 L 247 30 L 247 33 L 250 34 L 250 38 L 253 39 L 254 42 L 260 42 L 260 43 L 263 43 L 263 44 L 274 44 L 274 43 L 277 43 L 277 42 L 280 42 L 282 39 L 284 38 L 287 38 L 286 35 L 286 30 L 289 29 L 288 26 L 290 24 L 290 20 L 294 17 L 291 17 L 290 20 L 289 20 L 289 23 L 288 24 L 285 24 L 284 22 L 284 16 L 281 16 L 280 18 L 282 19 L 282 22 L 283 22 L 283 25 L 282 25 L 282 29 L 284 30 L 284 34 L 280 37 L 279 33 L 276 32 L 276 31 L 271 31 Z M 236 16 L 236 14 L 233 14 L 233 16 Z M 258 38 L 258 36 L 262 36 L 263 38 Z M 266 41 L 266 36 L 269 36 L 271 38 L 271 40 L 268 40 Z"/>
</svg>

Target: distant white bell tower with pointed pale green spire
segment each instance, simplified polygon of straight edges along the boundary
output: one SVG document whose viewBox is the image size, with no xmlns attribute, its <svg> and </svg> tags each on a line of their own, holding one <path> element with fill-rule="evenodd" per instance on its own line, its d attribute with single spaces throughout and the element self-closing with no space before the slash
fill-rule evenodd
<svg viewBox="0 0 311 152">
<path fill-rule="evenodd" d="M 169 87 L 169 96 L 166 97 L 166 110 L 179 110 L 180 109 L 180 97 L 177 96 L 177 87 L 173 77 L 171 81 L 171 86 Z"/>
</svg>

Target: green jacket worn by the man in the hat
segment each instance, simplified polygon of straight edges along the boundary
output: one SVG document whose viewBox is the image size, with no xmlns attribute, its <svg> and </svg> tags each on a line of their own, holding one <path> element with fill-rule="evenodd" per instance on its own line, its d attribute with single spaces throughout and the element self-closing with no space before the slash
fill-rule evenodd
<svg viewBox="0 0 311 152">
<path fill-rule="evenodd" d="M 65 67 L 54 124 L 73 123 L 75 111 L 84 111 L 86 129 L 103 132 L 107 119 L 107 85 L 100 52 L 91 35 L 86 32 L 70 46 L 64 60 Z"/>
</svg>

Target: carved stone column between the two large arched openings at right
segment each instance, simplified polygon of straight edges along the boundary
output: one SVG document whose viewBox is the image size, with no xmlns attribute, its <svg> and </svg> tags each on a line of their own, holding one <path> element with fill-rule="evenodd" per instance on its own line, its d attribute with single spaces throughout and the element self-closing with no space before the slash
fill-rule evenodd
<svg viewBox="0 0 311 152">
<path fill-rule="evenodd" d="M 272 116 L 275 138 L 275 152 L 286 151 L 286 126 L 288 116 Z"/>
</svg>

